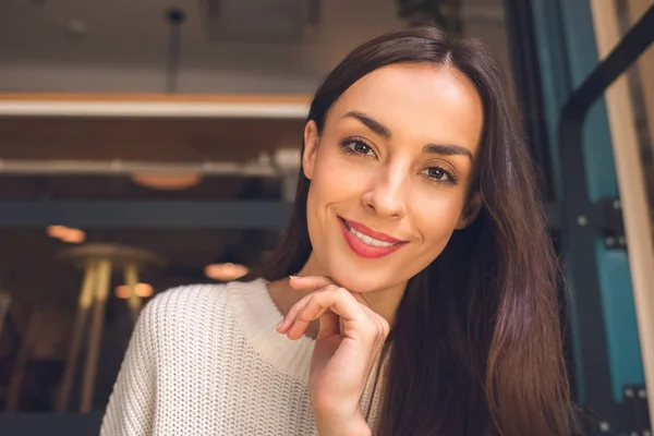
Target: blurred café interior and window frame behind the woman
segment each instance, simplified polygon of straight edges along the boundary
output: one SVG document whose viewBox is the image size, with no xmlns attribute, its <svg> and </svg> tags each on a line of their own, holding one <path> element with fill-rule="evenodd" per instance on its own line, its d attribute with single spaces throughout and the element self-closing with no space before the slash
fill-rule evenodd
<svg viewBox="0 0 654 436">
<path fill-rule="evenodd" d="M 289 216 L 311 96 L 434 24 L 499 58 L 567 286 L 584 435 L 651 435 L 652 0 L 0 0 L 0 434 L 97 434 L 158 292 L 241 277 Z"/>
</svg>

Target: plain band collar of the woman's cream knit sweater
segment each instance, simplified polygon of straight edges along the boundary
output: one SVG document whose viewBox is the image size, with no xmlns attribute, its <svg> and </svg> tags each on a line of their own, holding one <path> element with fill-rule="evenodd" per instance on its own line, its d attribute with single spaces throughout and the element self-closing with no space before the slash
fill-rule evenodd
<svg viewBox="0 0 654 436">
<path fill-rule="evenodd" d="M 264 279 L 234 281 L 228 287 L 235 322 L 255 351 L 278 371 L 307 383 L 315 340 L 306 336 L 290 340 L 277 332 L 277 323 L 283 314 L 272 301 Z"/>
</svg>

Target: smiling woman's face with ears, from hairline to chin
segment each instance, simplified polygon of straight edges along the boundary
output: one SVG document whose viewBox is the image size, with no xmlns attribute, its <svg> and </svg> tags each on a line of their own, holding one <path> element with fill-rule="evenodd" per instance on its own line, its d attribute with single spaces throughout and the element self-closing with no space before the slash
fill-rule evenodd
<svg viewBox="0 0 654 436">
<path fill-rule="evenodd" d="M 359 80 L 305 129 L 310 263 L 356 292 L 405 282 L 479 210 L 483 126 L 460 72 L 396 64 Z"/>
</svg>

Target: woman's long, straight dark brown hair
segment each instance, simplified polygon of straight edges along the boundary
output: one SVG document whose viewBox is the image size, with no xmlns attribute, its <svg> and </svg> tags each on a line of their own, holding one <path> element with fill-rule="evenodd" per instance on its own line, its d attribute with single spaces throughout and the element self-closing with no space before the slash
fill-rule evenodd
<svg viewBox="0 0 654 436">
<path fill-rule="evenodd" d="M 494 57 L 436 28 L 399 31 L 352 51 L 320 85 L 308 120 L 322 132 L 334 102 L 382 66 L 428 63 L 463 73 L 484 106 L 476 191 L 483 206 L 409 280 L 385 376 L 379 435 L 567 436 L 573 422 L 556 291 L 557 263 L 535 170 Z M 291 222 L 257 271 L 278 280 L 312 247 L 311 181 L 300 171 Z"/>
</svg>

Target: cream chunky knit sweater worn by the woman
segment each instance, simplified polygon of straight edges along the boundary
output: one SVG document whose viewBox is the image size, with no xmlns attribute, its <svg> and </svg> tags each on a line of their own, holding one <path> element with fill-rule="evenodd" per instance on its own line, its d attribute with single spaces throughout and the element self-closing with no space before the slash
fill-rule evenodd
<svg viewBox="0 0 654 436">
<path fill-rule="evenodd" d="M 136 324 L 100 435 L 315 435 L 314 340 L 278 334 L 281 318 L 263 280 L 158 295 Z M 373 380 L 362 410 L 374 426 Z"/>
</svg>

